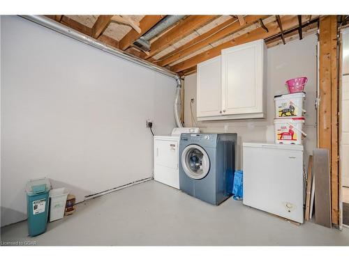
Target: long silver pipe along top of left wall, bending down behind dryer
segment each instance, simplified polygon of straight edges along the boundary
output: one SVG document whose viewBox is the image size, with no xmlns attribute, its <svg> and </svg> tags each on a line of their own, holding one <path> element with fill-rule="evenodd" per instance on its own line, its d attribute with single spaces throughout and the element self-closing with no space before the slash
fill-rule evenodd
<svg viewBox="0 0 349 261">
<path fill-rule="evenodd" d="M 137 65 L 141 65 L 151 70 L 154 70 L 156 72 L 160 72 L 161 74 L 165 74 L 168 77 L 174 78 L 177 82 L 177 88 L 176 88 L 176 93 L 174 97 L 174 106 L 173 106 L 174 119 L 176 121 L 177 127 L 183 127 L 183 124 L 179 116 L 180 108 L 181 108 L 180 106 L 181 105 L 181 96 L 180 96 L 181 95 L 181 79 L 178 74 L 171 72 L 170 70 L 167 70 L 165 68 L 162 68 L 158 65 L 155 65 L 154 63 L 150 63 L 148 61 L 142 60 L 137 56 L 133 56 L 132 54 L 128 54 L 114 47 L 105 45 L 105 43 L 103 42 L 100 42 L 94 38 L 89 37 L 88 35 L 84 35 L 83 33 L 75 31 L 74 29 L 71 29 L 70 27 L 65 26 L 64 24 L 55 22 L 54 20 L 48 17 L 44 17 L 42 15 L 20 15 L 20 17 L 23 17 L 24 19 L 28 19 L 29 21 L 34 22 L 36 24 L 40 24 L 41 26 L 44 26 L 53 31 L 57 31 L 57 33 L 66 35 L 70 38 L 78 40 L 79 42 L 83 42 L 84 44 L 90 45 L 91 47 L 101 49 L 103 52 L 107 52 L 108 54 L 112 54 L 126 61 L 130 61 Z"/>
</svg>

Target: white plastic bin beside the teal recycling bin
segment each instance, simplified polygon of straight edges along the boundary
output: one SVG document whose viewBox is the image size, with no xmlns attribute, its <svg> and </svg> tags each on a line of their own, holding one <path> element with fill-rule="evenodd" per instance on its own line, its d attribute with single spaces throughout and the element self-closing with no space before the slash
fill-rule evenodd
<svg viewBox="0 0 349 261">
<path fill-rule="evenodd" d="M 50 222 L 63 219 L 67 196 L 68 190 L 66 188 L 50 190 Z"/>
</svg>

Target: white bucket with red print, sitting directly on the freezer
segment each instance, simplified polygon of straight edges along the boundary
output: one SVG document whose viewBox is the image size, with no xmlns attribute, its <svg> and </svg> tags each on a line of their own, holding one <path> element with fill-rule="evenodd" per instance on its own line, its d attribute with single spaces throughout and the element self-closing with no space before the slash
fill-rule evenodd
<svg viewBox="0 0 349 261">
<path fill-rule="evenodd" d="M 304 118 L 274 119 L 275 143 L 302 144 Z"/>
</svg>

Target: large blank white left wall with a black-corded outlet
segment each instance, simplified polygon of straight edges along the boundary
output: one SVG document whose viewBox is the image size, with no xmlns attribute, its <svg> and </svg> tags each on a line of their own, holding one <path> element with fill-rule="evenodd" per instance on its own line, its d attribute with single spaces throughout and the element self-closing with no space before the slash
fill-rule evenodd
<svg viewBox="0 0 349 261">
<path fill-rule="evenodd" d="M 176 82 L 21 17 L 1 21 L 1 226 L 26 218 L 24 185 L 84 196 L 152 176 L 175 125 Z"/>
</svg>

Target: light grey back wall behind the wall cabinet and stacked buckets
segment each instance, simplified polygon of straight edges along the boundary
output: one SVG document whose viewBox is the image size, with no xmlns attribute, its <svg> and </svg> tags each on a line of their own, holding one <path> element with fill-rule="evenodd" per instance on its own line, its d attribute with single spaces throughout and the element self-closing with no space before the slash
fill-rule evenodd
<svg viewBox="0 0 349 261">
<path fill-rule="evenodd" d="M 285 80 L 295 77 L 308 77 L 306 84 L 306 124 L 304 140 L 307 166 L 308 155 L 316 147 L 316 35 L 309 35 L 303 40 L 294 40 L 286 45 L 268 49 L 267 57 L 267 118 L 251 120 L 215 120 L 199 121 L 201 132 L 237 132 L 238 164 L 242 168 L 242 143 L 248 141 L 274 142 L 274 95 L 287 93 Z M 196 74 L 188 75 L 184 80 L 184 122 L 186 127 L 193 126 L 191 120 L 191 99 L 196 101 Z M 193 104 L 196 118 L 196 103 Z"/>
</svg>

